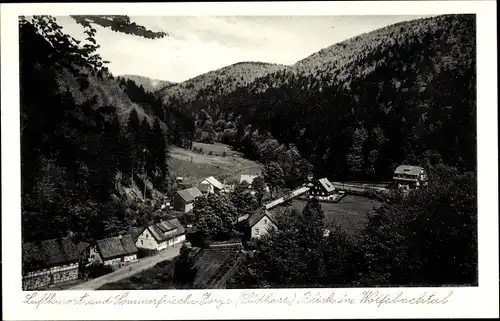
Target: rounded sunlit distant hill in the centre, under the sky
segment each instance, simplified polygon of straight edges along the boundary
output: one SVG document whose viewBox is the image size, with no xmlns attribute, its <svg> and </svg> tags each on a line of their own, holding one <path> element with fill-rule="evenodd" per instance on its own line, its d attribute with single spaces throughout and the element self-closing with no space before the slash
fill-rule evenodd
<svg viewBox="0 0 500 321">
<path fill-rule="evenodd" d="M 214 97 L 228 94 L 236 88 L 253 82 L 270 72 L 285 66 L 264 62 L 239 62 L 183 81 L 157 92 L 165 102 L 175 99 L 189 102 L 198 97 Z"/>
</svg>

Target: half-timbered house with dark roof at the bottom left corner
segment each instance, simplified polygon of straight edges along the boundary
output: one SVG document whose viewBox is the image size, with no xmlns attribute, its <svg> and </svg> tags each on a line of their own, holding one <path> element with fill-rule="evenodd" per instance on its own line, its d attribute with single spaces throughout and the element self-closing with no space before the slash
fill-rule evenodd
<svg viewBox="0 0 500 321">
<path fill-rule="evenodd" d="M 23 290 L 35 290 L 78 279 L 80 256 L 70 238 L 23 244 Z"/>
</svg>

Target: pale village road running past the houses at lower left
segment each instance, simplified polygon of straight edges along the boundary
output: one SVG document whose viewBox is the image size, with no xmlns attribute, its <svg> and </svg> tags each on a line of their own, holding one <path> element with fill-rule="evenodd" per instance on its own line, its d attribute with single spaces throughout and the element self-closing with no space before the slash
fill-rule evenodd
<svg viewBox="0 0 500 321">
<path fill-rule="evenodd" d="M 176 244 L 166 250 L 161 251 L 157 255 L 141 258 L 137 263 L 124 266 L 112 273 L 103 275 L 85 283 L 78 284 L 77 286 L 69 288 L 69 290 L 97 290 L 107 283 L 113 283 L 129 278 L 137 273 L 154 267 L 156 264 L 162 261 L 173 259 L 177 255 L 179 255 L 179 250 L 181 247 L 182 244 Z"/>
</svg>

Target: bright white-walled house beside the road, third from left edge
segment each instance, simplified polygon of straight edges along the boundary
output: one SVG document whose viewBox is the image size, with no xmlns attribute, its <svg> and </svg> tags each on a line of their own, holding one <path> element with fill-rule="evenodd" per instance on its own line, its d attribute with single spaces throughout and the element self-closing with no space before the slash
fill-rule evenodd
<svg viewBox="0 0 500 321">
<path fill-rule="evenodd" d="M 161 251 L 172 245 L 184 242 L 186 229 L 178 219 L 151 224 L 144 228 L 135 244 L 140 249 Z"/>
</svg>

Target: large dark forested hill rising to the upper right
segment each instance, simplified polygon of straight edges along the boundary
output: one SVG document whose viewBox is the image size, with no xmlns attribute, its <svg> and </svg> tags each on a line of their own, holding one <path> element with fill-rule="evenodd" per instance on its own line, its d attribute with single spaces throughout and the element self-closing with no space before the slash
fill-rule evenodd
<svg viewBox="0 0 500 321">
<path fill-rule="evenodd" d="M 213 123 L 237 119 L 236 133 L 218 134 L 249 157 L 262 156 L 270 134 L 320 175 L 386 180 L 401 163 L 475 169 L 475 47 L 474 15 L 402 22 L 192 105 Z"/>
</svg>

